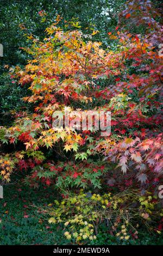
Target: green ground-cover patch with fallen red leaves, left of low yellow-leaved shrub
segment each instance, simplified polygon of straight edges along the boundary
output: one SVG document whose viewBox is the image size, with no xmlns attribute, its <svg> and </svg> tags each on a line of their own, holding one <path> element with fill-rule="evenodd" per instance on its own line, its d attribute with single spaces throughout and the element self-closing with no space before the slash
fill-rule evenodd
<svg viewBox="0 0 163 256">
<path fill-rule="evenodd" d="M 66 244 L 61 228 L 50 226 L 48 217 L 40 212 L 53 202 L 55 193 L 52 189 L 34 191 L 25 186 L 4 186 L 4 199 L 0 199 L 0 244 Z"/>
</svg>

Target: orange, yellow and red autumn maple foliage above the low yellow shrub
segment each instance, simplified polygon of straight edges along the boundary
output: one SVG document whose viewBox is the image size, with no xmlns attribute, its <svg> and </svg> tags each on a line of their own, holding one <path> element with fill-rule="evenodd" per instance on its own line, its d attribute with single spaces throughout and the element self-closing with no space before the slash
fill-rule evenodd
<svg viewBox="0 0 163 256">
<path fill-rule="evenodd" d="M 129 2 L 115 31 L 108 29 L 114 50 L 93 39 L 97 31 L 84 34 L 78 22 L 60 27 L 60 16 L 43 41 L 29 36 L 28 64 L 9 71 L 11 80 L 28 84 L 31 94 L 23 99 L 29 108 L 14 113 L 11 127 L 1 127 L 2 182 L 9 182 L 11 173 L 23 173 L 26 184 L 55 184 L 63 197 L 78 187 L 158 194 L 163 181 L 162 28 L 149 1 L 143 6 Z M 130 32 L 133 24 L 143 33 Z M 70 113 L 110 111 L 110 136 L 54 130 L 52 115 L 65 107 Z"/>
</svg>

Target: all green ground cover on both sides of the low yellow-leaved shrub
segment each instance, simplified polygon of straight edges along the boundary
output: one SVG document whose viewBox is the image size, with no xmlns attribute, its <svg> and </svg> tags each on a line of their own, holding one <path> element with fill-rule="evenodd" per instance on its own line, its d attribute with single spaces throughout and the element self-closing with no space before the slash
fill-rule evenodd
<svg viewBox="0 0 163 256">
<path fill-rule="evenodd" d="M 26 186 L 4 186 L 0 199 L 0 245 L 68 245 L 59 225 L 49 225 L 48 216 L 41 211 L 57 198 L 52 188 L 33 190 Z M 89 243 L 88 243 L 89 244 Z M 163 236 L 139 232 L 139 239 L 121 241 L 102 225 L 97 240 L 91 245 L 163 245 Z"/>
</svg>

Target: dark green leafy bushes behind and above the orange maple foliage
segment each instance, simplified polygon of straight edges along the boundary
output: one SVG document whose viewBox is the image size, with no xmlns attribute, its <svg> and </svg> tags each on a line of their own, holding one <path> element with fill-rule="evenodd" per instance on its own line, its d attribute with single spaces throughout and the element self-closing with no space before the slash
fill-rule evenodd
<svg viewBox="0 0 163 256">
<path fill-rule="evenodd" d="M 12 109 L 20 109 L 24 105 L 20 94 L 27 95 L 27 88 L 15 87 L 8 80 L 4 65 L 24 65 L 30 57 L 21 47 L 30 45 L 28 34 L 43 39 L 47 26 L 54 22 L 59 14 L 64 20 L 78 20 L 82 28 L 98 29 L 95 39 L 102 40 L 105 47 L 109 45 L 108 28 L 117 25 L 117 13 L 125 1 L 14 1 L 1 0 L 0 9 L 0 43 L 3 45 L 4 56 L 0 57 L 0 94 L 2 124 L 10 123 Z M 40 16 L 39 11 L 45 10 L 46 15 Z M 24 28 L 23 30 L 21 28 Z M 9 93 L 10 92 L 10 93 Z"/>
</svg>

